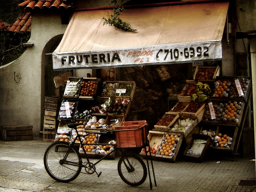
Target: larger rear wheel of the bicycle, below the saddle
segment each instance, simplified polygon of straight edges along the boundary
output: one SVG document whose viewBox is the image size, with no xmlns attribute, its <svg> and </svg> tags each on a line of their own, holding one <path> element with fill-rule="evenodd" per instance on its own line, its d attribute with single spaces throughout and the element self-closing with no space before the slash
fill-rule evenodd
<svg viewBox="0 0 256 192">
<path fill-rule="evenodd" d="M 70 182 L 80 174 L 82 158 L 67 142 L 54 142 L 44 153 L 44 168 L 54 180 Z"/>
</svg>

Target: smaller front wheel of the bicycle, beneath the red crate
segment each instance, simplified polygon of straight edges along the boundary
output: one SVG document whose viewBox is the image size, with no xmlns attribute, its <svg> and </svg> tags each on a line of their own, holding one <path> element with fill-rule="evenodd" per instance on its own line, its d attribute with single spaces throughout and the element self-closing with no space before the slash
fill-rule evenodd
<svg viewBox="0 0 256 192">
<path fill-rule="evenodd" d="M 141 185 L 147 177 L 147 168 L 141 158 L 127 155 L 118 161 L 118 174 L 130 186 Z"/>
</svg>

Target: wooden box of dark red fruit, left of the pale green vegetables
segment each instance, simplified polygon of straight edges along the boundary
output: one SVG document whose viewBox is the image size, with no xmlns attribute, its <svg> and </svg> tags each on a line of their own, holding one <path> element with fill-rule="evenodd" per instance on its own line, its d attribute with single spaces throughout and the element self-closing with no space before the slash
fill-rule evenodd
<svg viewBox="0 0 256 192">
<path fill-rule="evenodd" d="M 169 119 L 168 122 L 166 122 L 165 119 Z M 170 130 L 170 126 L 174 124 L 174 122 L 179 118 L 179 114 L 168 114 L 165 113 L 164 116 L 157 122 L 156 125 L 154 125 L 154 130 L 156 131 L 168 131 Z M 166 124 L 164 125 L 163 122 Z"/>
</svg>

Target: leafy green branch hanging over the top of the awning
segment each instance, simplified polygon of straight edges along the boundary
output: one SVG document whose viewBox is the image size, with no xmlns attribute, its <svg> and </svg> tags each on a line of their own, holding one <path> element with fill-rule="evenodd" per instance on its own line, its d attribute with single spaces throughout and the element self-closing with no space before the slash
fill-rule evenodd
<svg viewBox="0 0 256 192">
<path fill-rule="evenodd" d="M 137 29 L 132 29 L 131 25 L 127 22 L 124 22 L 122 20 L 122 18 L 120 18 L 120 12 L 124 12 L 125 8 L 121 7 L 123 0 L 121 1 L 120 5 L 118 7 L 115 7 L 113 9 L 113 14 L 110 15 L 110 18 L 103 18 L 105 21 L 103 23 L 103 25 L 108 24 L 109 26 L 115 26 L 118 29 L 122 29 L 125 31 L 130 31 L 130 32 L 134 32 L 137 31 Z M 111 3 L 113 5 L 116 5 L 117 0 L 111 0 Z"/>
</svg>

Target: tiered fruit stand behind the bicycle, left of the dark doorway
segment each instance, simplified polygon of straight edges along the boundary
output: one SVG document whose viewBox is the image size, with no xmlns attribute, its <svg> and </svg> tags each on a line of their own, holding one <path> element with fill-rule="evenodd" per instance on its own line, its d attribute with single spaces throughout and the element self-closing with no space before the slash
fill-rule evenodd
<svg viewBox="0 0 256 192">
<path fill-rule="evenodd" d="M 68 78 L 60 104 L 55 140 L 70 142 L 76 132 L 68 128 L 68 123 L 78 123 L 78 133 L 86 144 L 84 147 L 88 155 L 100 157 L 109 153 L 111 144 L 97 144 L 108 144 L 115 140 L 114 136 L 88 135 L 88 132 L 98 132 L 96 127 L 110 125 L 110 120 L 116 118 L 121 120 L 116 126 L 121 126 L 128 114 L 135 87 L 135 82 L 100 82 L 97 78 Z M 82 155 L 80 143 L 76 143 Z M 113 153 L 112 157 L 114 156 Z"/>
</svg>

